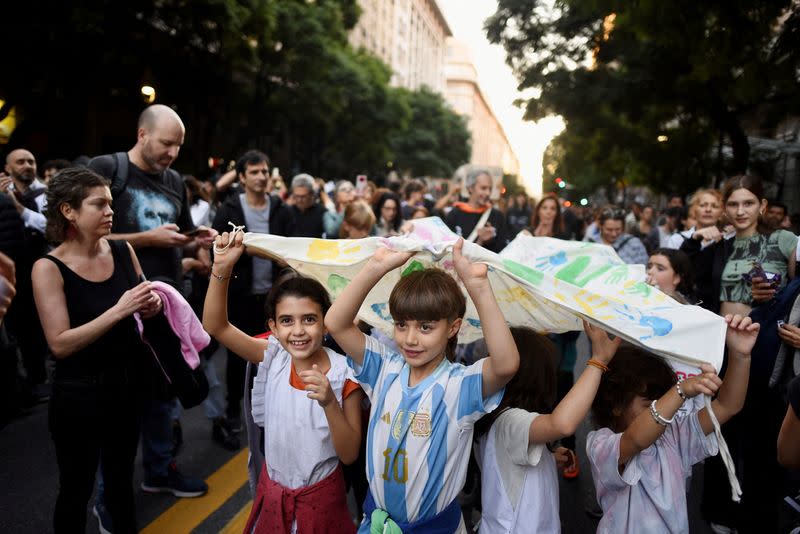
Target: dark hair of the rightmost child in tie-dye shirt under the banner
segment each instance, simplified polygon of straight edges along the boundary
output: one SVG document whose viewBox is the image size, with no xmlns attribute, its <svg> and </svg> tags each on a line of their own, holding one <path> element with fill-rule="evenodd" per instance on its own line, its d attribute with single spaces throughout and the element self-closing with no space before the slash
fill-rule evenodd
<svg viewBox="0 0 800 534">
<path fill-rule="evenodd" d="M 675 371 L 662 358 L 644 349 L 623 344 L 600 380 L 592 418 L 599 428 L 625 430 L 623 418 L 633 399 L 658 399 L 675 385 Z"/>
</svg>

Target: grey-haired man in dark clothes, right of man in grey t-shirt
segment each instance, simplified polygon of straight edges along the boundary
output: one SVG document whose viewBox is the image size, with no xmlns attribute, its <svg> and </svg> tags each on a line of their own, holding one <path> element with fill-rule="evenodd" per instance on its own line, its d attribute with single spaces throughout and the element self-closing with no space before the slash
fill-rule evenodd
<svg viewBox="0 0 800 534">
<path fill-rule="evenodd" d="M 290 199 L 279 210 L 272 233 L 285 237 L 323 237 L 323 217 L 327 210 L 317 202 L 314 178 L 298 174 L 292 178 L 289 189 Z"/>
</svg>

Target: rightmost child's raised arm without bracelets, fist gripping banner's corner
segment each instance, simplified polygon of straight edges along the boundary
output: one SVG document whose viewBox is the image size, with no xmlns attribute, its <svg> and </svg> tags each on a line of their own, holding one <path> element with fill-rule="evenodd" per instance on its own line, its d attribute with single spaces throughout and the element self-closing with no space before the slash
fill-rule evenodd
<svg viewBox="0 0 800 534">
<path fill-rule="evenodd" d="M 754 323 L 750 317 L 726 315 L 725 321 L 728 323 L 725 335 L 725 344 L 728 346 L 728 368 L 719 395 L 711 403 L 719 424 L 728 421 L 744 406 L 747 383 L 750 379 L 750 352 L 753 350 L 760 329 L 760 325 Z M 710 434 L 714 431 L 708 410 L 703 408 L 697 417 L 703 432 Z"/>
</svg>

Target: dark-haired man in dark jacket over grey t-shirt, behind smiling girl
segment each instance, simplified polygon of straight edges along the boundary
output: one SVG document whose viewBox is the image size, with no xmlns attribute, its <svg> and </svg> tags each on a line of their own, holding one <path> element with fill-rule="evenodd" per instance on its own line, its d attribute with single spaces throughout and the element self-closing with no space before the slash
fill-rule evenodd
<svg viewBox="0 0 800 534">
<path fill-rule="evenodd" d="M 213 228 L 220 233 L 230 231 L 230 222 L 244 226 L 246 232 L 274 233 L 281 200 L 268 193 L 269 158 L 263 152 L 249 150 L 237 160 L 236 174 L 244 192 L 225 200 L 217 210 Z M 264 303 L 276 271 L 273 262 L 257 256 L 245 254 L 236 263 L 228 291 L 228 313 L 231 323 L 243 332 L 256 335 L 266 330 Z M 244 358 L 228 351 L 226 412 L 235 432 L 242 426 L 240 404 L 246 365 Z"/>
</svg>

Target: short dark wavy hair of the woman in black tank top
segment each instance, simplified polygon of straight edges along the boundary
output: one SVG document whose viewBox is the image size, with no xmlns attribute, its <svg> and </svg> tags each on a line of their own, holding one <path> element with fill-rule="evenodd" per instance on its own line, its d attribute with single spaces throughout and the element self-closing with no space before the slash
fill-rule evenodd
<svg viewBox="0 0 800 534">
<path fill-rule="evenodd" d="M 66 238 L 70 222 L 61 213 L 63 204 L 79 210 L 91 189 L 109 187 L 110 184 L 111 182 L 88 167 L 68 167 L 53 176 L 47 184 L 47 208 L 44 213 L 47 217 L 47 240 L 61 243 Z"/>
</svg>

